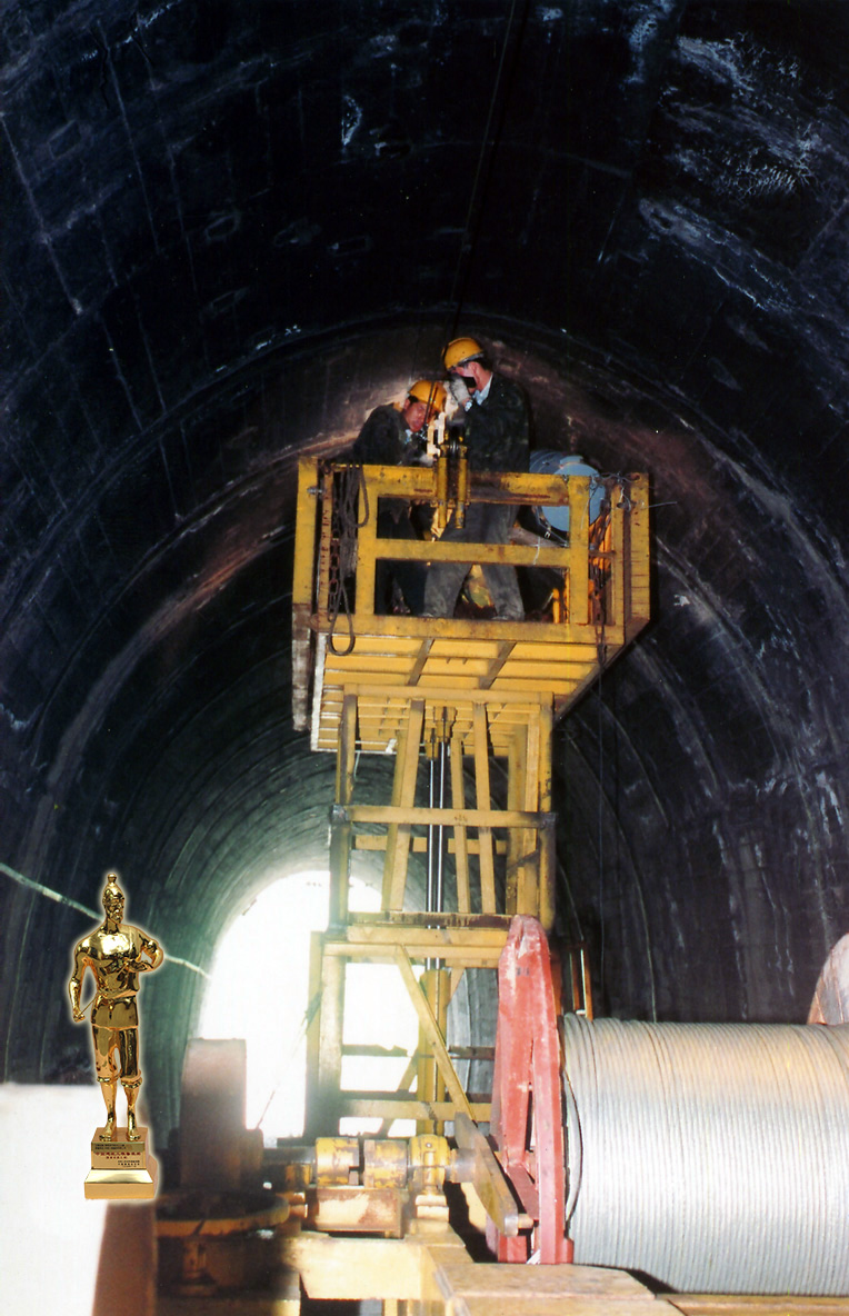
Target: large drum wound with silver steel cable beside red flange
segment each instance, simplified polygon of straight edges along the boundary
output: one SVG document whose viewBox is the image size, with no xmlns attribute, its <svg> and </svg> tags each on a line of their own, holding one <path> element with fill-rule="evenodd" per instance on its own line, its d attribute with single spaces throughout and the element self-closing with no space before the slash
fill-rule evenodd
<svg viewBox="0 0 849 1316">
<path fill-rule="evenodd" d="M 849 1025 L 562 1028 L 575 1262 L 679 1292 L 849 1294 Z"/>
</svg>

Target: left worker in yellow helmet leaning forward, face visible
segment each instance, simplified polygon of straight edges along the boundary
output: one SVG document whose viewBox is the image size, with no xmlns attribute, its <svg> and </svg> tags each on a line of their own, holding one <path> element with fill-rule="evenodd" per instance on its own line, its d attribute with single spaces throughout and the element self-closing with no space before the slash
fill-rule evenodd
<svg viewBox="0 0 849 1316">
<path fill-rule="evenodd" d="M 426 465 L 428 425 L 445 411 L 448 395 L 438 380 L 419 379 L 404 403 L 375 407 L 351 449 L 361 465 Z M 417 540 L 409 504 L 400 499 L 380 499 L 378 537 Z M 424 605 L 425 566 L 419 562 L 392 562 L 379 558 L 375 569 L 375 612 L 420 613 Z"/>
</svg>

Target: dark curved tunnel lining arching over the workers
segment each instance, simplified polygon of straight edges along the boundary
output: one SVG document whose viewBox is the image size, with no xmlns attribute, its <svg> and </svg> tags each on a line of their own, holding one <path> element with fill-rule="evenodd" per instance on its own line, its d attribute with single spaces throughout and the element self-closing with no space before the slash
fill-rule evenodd
<svg viewBox="0 0 849 1316">
<path fill-rule="evenodd" d="M 324 855 L 294 463 L 454 326 L 540 446 L 653 482 L 656 621 L 558 740 L 563 930 L 608 1011 L 804 1017 L 849 908 L 845 7 L 29 0 L 0 41 L 5 1076 L 78 1045 L 84 926 L 13 874 L 118 866 L 208 966 Z M 172 1108 L 203 980 L 162 979 Z"/>
</svg>

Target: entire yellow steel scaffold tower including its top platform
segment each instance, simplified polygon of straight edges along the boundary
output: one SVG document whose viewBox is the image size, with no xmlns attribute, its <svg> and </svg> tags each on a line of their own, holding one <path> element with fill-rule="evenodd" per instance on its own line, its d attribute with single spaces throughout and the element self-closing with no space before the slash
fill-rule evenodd
<svg viewBox="0 0 849 1316">
<path fill-rule="evenodd" d="M 470 476 L 471 503 L 569 505 L 567 544 L 528 534 L 505 545 L 378 537 L 379 500 L 438 504 L 446 480 L 437 467 L 351 468 L 312 459 L 299 465 L 295 724 L 309 729 L 313 749 L 337 755 L 330 919 L 328 930 L 313 938 L 311 970 L 308 1133 L 338 1128 L 345 1115 L 376 1115 L 384 1129 L 398 1117 L 415 1119 L 420 1132 L 441 1132 L 459 1111 L 488 1119 L 488 1100 L 475 1094 L 470 1099 L 458 1078 L 446 1038 L 448 1004 L 465 969 L 495 970 L 513 915 L 532 915 L 552 928 L 553 726 L 649 619 L 645 476 L 608 482 L 602 524 L 590 522 L 587 476 Z M 340 480 L 351 471 L 357 507 L 345 525 Z M 557 582 L 549 617 L 379 615 L 374 596 L 380 558 L 546 569 Z M 449 763 L 450 804 L 423 807 L 416 803 L 423 749 L 433 754 L 438 745 Z M 386 805 L 354 801 L 361 753 L 395 754 Z M 507 761 L 505 807 L 494 803 L 491 757 Z M 465 762 L 474 805 L 466 799 Z M 411 854 L 428 845 L 423 828 L 441 829 L 453 855 L 450 909 L 411 909 L 408 865 Z M 349 912 L 353 849 L 384 854 L 376 916 Z M 416 1009 L 419 1051 L 398 1092 L 342 1092 L 345 965 L 351 961 L 395 965 Z M 416 966 L 423 965 L 417 978 Z M 567 980 L 577 992 L 574 1004 L 591 1011 L 582 959 Z"/>
</svg>

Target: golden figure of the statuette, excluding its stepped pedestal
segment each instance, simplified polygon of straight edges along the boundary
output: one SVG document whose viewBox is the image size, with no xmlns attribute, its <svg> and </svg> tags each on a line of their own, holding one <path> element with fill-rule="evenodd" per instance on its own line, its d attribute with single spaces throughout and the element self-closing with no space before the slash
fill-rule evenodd
<svg viewBox="0 0 849 1316">
<path fill-rule="evenodd" d="M 126 1096 L 126 1136 L 136 1141 L 136 1098 L 141 1087 L 136 1005 L 138 975 L 158 969 L 163 951 L 147 933 L 122 921 L 124 892 L 118 887 L 117 873 L 107 873 L 103 908 L 103 924 L 83 937 L 74 950 L 74 974 L 68 983 L 71 1013 L 75 1024 L 83 1023 L 86 1016 L 79 1008 L 79 996 L 86 970 L 91 969 L 96 984 L 91 1011 L 95 1069 L 107 1105 L 107 1123 L 100 1140 L 111 1142 L 115 1136 L 115 1099 L 120 1074 Z"/>
</svg>

